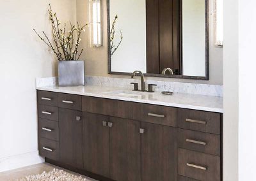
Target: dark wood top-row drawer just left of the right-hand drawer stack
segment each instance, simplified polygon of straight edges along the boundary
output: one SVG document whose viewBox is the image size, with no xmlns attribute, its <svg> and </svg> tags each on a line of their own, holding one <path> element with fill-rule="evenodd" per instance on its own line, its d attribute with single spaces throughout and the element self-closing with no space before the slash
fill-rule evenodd
<svg viewBox="0 0 256 181">
<path fill-rule="evenodd" d="M 134 103 L 133 119 L 165 126 L 177 126 L 177 108 Z"/>
</svg>

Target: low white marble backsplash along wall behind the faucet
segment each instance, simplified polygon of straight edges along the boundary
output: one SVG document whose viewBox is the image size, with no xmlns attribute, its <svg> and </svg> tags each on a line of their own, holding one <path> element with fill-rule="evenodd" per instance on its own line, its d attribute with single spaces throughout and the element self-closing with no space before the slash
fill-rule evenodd
<svg viewBox="0 0 256 181">
<path fill-rule="evenodd" d="M 86 85 L 97 85 L 104 87 L 120 87 L 132 89 L 131 82 L 138 82 L 140 87 L 140 78 L 111 78 L 105 76 L 86 76 Z M 204 96 L 218 96 L 223 97 L 222 85 L 209 85 L 200 83 L 184 83 L 184 82 L 169 82 L 169 81 L 156 81 L 147 80 L 146 84 L 156 84 L 155 91 L 173 91 L 186 94 L 197 94 Z M 58 78 L 36 78 L 36 87 L 47 87 L 58 85 Z M 146 85 L 147 87 L 147 85 Z"/>
</svg>

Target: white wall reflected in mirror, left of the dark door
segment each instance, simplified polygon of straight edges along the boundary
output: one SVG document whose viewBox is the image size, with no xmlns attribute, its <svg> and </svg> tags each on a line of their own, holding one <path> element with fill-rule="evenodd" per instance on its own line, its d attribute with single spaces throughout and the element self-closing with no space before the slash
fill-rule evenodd
<svg viewBox="0 0 256 181">
<path fill-rule="evenodd" d="M 121 29 L 123 41 L 111 57 L 111 71 L 132 72 L 136 69 L 147 73 L 146 62 L 146 1 L 110 0 L 111 24 L 118 15 L 115 25 L 115 44 L 120 41 Z"/>
</svg>

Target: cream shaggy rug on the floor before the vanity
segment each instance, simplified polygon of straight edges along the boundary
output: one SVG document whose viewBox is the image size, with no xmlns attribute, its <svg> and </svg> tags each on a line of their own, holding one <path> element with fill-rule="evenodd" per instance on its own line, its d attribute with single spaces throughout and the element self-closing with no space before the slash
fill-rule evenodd
<svg viewBox="0 0 256 181">
<path fill-rule="evenodd" d="M 29 175 L 16 181 L 86 181 L 86 178 L 54 168 L 50 172 L 44 171 L 42 174 Z"/>
</svg>

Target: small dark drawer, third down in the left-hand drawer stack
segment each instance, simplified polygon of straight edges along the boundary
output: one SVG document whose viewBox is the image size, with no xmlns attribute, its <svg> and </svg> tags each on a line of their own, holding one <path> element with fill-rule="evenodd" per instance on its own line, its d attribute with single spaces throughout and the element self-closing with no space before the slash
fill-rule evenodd
<svg viewBox="0 0 256 181">
<path fill-rule="evenodd" d="M 38 119 L 39 137 L 59 141 L 59 122 L 47 119 Z"/>
</svg>

